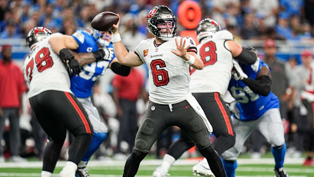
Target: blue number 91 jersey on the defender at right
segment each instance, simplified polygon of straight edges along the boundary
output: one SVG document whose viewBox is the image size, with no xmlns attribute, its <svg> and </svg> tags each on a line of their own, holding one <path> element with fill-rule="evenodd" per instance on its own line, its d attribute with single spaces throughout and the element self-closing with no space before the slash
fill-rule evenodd
<svg viewBox="0 0 314 177">
<path fill-rule="evenodd" d="M 267 66 L 263 61 L 257 58 L 252 65 L 241 64 L 243 72 L 251 79 L 256 76 L 262 66 Z M 279 108 L 279 99 L 270 92 L 267 96 L 259 95 L 253 92 L 243 81 L 235 81 L 231 78 L 229 87 L 231 95 L 237 99 L 237 108 L 240 111 L 240 120 L 250 121 L 260 118 L 266 111 L 272 108 Z"/>
</svg>

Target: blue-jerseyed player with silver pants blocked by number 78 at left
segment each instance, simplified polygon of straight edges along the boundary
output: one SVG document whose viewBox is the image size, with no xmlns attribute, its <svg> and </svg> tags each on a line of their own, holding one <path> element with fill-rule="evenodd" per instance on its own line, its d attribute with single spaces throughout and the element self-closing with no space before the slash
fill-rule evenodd
<svg viewBox="0 0 314 177">
<path fill-rule="evenodd" d="M 86 165 L 93 153 L 99 148 L 100 144 L 107 136 L 107 127 L 100 121 L 97 109 L 91 102 L 93 86 L 97 79 L 104 75 L 106 68 L 118 75 L 128 76 L 130 67 L 121 65 L 117 62 L 113 53 L 110 31 L 98 31 L 95 29 L 76 30 L 72 36 L 63 36 L 65 46 L 75 52 L 93 52 L 95 62 L 84 65 L 78 76 L 71 75 L 71 91 L 78 101 L 80 101 L 94 128 L 94 137 L 89 149 L 77 166 L 76 176 L 89 176 Z M 100 50 L 99 50 L 100 49 Z M 102 50 L 101 50 L 102 49 Z"/>
</svg>

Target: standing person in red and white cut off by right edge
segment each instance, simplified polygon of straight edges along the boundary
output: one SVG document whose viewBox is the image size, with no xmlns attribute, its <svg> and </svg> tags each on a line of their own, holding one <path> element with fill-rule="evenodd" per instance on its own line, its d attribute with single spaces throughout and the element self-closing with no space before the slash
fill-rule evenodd
<svg viewBox="0 0 314 177">
<path fill-rule="evenodd" d="M 313 54 L 309 50 L 304 50 L 301 53 L 302 61 L 308 61 L 310 63 L 313 58 Z M 303 163 L 303 166 L 313 166 L 314 165 L 314 77 L 312 69 L 314 67 L 314 63 L 311 63 L 308 67 L 309 75 L 304 81 L 305 89 L 301 93 L 302 103 L 304 104 L 307 110 L 307 116 L 305 119 L 305 126 L 302 127 L 304 142 L 306 142 L 305 151 L 306 157 Z"/>
</svg>

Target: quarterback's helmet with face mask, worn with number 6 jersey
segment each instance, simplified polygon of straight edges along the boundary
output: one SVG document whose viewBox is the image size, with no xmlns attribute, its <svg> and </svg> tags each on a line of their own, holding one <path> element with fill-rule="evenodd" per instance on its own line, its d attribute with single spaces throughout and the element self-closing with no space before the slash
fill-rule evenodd
<svg viewBox="0 0 314 177">
<path fill-rule="evenodd" d="M 167 6 L 153 7 L 149 11 L 146 20 L 147 29 L 153 36 L 163 41 L 169 41 L 175 36 L 177 18 Z"/>
</svg>

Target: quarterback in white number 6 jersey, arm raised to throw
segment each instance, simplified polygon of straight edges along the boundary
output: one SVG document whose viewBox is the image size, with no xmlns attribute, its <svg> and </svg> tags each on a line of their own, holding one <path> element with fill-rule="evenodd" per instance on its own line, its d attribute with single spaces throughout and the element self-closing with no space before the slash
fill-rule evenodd
<svg viewBox="0 0 314 177">
<path fill-rule="evenodd" d="M 140 162 L 152 144 L 168 126 L 178 126 L 193 140 L 202 155 L 211 163 L 213 173 L 226 176 L 220 156 L 210 143 L 212 127 L 202 108 L 189 91 L 189 65 L 203 69 L 194 41 L 175 37 L 176 17 L 166 6 L 155 6 L 147 15 L 147 27 L 153 39 L 143 40 L 135 52 L 128 53 L 118 33 L 119 22 L 111 29 L 114 53 L 124 65 L 149 69 L 149 99 L 135 147 L 128 158 L 123 176 L 135 176 Z M 179 42 L 179 43 L 178 43 Z"/>
</svg>

